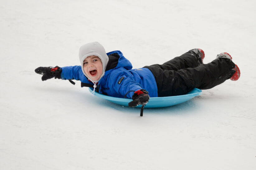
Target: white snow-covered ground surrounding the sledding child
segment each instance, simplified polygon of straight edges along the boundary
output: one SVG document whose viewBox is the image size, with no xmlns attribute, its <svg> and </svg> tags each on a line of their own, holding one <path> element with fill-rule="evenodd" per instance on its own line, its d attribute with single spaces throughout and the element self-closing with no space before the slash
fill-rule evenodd
<svg viewBox="0 0 256 170">
<path fill-rule="evenodd" d="M 254 0 L 0 3 L 0 169 L 256 169 Z M 167 108 L 122 107 L 39 66 L 79 65 L 81 45 L 121 50 L 134 68 L 201 48 L 241 70 Z"/>
</svg>

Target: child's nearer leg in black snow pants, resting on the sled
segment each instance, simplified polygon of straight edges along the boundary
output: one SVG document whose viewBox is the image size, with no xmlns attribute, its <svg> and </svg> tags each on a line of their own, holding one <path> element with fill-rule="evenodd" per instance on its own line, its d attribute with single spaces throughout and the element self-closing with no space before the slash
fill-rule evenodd
<svg viewBox="0 0 256 170">
<path fill-rule="evenodd" d="M 235 64 L 228 58 L 217 58 L 208 64 L 177 71 L 151 70 L 155 76 L 158 96 L 187 94 L 193 88 L 210 89 L 229 79 L 235 71 Z"/>
</svg>

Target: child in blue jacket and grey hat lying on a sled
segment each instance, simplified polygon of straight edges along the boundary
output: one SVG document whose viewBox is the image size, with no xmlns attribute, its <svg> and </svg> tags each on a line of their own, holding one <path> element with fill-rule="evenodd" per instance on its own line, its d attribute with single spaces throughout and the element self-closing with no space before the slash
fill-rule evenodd
<svg viewBox="0 0 256 170">
<path fill-rule="evenodd" d="M 193 88 L 210 89 L 227 79 L 238 80 L 240 70 L 228 53 L 203 64 L 204 51 L 197 48 L 175 57 L 162 65 L 154 64 L 132 69 L 121 51 L 106 53 L 98 42 L 79 49 L 81 66 L 38 67 L 42 80 L 55 77 L 62 80 L 80 80 L 81 87 L 93 87 L 99 93 L 133 99 L 130 107 L 145 105 L 150 97 L 187 94 Z"/>
</svg>

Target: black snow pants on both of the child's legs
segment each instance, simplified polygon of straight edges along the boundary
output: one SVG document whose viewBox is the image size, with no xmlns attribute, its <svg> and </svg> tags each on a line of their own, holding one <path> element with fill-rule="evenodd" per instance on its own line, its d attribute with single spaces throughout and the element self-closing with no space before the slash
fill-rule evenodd
<svg viewBox="0 0 256 170">
<path fill-rule="evenodd" d="M 234 62 L 228 58 L 202 64 L 201 52 L 192 49 L 162 65 L 144 68 L 148 68 L 155 77 L 158 97 L 165 97 L 187 94 L 193 88 L 211 89 L 232 77 L 234 67 Z"/>
</svg>

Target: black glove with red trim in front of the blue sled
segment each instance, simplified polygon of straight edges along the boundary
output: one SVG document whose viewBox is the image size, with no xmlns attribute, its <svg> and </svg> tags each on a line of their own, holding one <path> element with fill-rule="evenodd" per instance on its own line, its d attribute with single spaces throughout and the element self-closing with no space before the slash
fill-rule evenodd
<svg viewBox="0 0 256 170">
<path fill-rule="evenodd" d="M 132 96 L 133 101 L 128 103 L 129 107 L 136 107 L 138 105 L 145 105 L 149 102 L 149 92 L 144 89 L 137 90 Z"/>
</svg>

